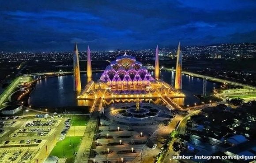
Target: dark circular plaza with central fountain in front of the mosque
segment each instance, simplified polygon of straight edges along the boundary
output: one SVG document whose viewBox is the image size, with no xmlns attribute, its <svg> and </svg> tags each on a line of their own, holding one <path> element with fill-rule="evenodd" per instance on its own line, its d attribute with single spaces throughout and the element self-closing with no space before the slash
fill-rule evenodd
<svg viewBox="0 0 256 163">
<path fill-rule="evenodd" d="M 112 122 L 120 124 L 157 124 L 173 118 L 173 113 L 165 106 L 157 104 L 122 103 L 105 107 L 104 115 Z"/>
</svg>

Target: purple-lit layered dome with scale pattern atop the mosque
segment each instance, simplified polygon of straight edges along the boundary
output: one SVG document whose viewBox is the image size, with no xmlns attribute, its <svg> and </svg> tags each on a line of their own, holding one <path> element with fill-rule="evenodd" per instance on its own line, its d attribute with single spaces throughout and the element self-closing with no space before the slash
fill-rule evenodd
<svg viewBox="0 0 256 163">
<path fill-rule="evenodd" d="M 146 67 L 125 53 L 106 67 L 100 81 L 106 82 L 107 85 L 149 85 L 154 78 L 147 72 Z"/>
</svg>

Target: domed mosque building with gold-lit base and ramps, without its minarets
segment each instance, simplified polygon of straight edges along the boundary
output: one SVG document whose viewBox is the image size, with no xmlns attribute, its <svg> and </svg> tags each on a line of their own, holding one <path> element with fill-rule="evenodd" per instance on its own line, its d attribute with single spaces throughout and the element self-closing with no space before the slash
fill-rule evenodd
<svg viewBox="0 0 256 163">
<path fill-rule="evenodd" d="M 158 55 L 158 48 L 156 50 Z M 158 56 L 156 56 L 157 58 Z M 156 64 L 157 66 L 158 64 Z M 98 81 L 89 81 L 78 100 L 94 100 L 94 106 L 102 108 L 103 99 L 152 99 L 164 101 L 169 108 L 182 110 L 172 98 L 184 99 L 185 95 L 164 81 L 155 79 L 142 63 L 126 53 L 112 61 Z"/>
</svg>

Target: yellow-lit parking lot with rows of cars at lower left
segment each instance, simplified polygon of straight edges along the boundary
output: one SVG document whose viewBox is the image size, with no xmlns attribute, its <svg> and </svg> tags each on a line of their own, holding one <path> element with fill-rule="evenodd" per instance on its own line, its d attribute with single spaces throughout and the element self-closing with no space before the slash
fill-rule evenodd
<svg viewBox="0 0 256 163">
<path fill-rule="evenodd" d="M 1 118 L 0 163 L 29 163 L 42 154 L 46 157 L 71 127 L 70 122 L 64 124 L 66 120 L 60 116 Z M 42 162 L 38 159 L 38 163 Z"/>
</svg>

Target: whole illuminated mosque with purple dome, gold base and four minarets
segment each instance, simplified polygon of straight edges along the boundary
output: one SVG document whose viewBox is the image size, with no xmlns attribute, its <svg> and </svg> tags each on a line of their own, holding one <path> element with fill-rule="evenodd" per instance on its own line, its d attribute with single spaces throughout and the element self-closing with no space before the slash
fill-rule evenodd
<svg viewBox="0 0 256 163">
<path fill-rule="evenodd" d="M 172 99 L 184 99 L 181 92 L 181 48 L 177 51 L 177 68 L 175 88 L 165 81 L 159 80 L 158 46 L 155 56 L 155 76 L 151 76 L 142 63 L 133 56 L 124 53 L 112 61 L 102 73 L 98 81 L 92 80 L 90 48 L 87 49 L 87 85 L 81 90 L 78 49 L 74 50 L 74 90 L 79 93 L 77 100 L 94 100 L 91 111 L 100 111 L 103 100 L 111 99 L 161 99 L 170 109 L 182 110 Z M 178 75 L 178 77 L 177 77 Z M 97 109 L 97 108 L 98 109 Z"/>
</svg>

